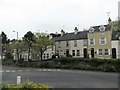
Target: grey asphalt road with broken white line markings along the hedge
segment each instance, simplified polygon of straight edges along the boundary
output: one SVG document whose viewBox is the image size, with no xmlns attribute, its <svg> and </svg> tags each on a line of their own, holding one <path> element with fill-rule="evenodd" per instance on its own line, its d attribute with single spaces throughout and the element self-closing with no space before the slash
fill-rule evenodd
<svg viewBox="0 0 120 90">
<path fill-rule="evenodd" d="M 2 81 L 8 83 L 16 83 L 16 77 L 20 75 L 22 81 L 30 80 L 50 88 L 118 88 L 117 73 L 6 66 L 2 68 Z"/>
</svg>

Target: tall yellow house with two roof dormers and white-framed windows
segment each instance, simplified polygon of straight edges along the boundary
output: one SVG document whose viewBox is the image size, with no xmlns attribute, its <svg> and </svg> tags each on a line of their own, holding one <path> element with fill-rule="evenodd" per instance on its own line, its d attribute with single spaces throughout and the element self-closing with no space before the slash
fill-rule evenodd
<svg viewBox="0 0 120 90">
<path fill-rule="evenodd" d="M 88 54 L 90 58 L 111 58 L 111 25 L 90 27 L 88 32 Z"/>
</svg>

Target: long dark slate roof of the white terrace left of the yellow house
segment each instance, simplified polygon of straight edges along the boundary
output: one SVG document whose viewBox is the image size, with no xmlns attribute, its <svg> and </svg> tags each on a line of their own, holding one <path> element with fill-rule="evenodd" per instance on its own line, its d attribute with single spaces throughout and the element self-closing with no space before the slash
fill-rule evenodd
<svg viewBox="0 0 120 90">
<path fill-rule="evenodd" d="M 80 40 L 80 39 L 87 39 L 87 32 L 88 31 L 81 31 L 77 34 L 73 33 L 65 33 L 63 36 L 55 37 L 54 41 L 69 41 L 69 40 Z"/>
</svg>

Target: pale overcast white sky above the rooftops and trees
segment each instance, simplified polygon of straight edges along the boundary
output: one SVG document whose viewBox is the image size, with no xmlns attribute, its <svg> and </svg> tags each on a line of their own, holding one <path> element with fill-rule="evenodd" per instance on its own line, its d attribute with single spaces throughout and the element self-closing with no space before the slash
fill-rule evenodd
<svg viewBox="0 0 120 90">
<path fill-rule="evenodd" d="M 117 20 L 120 0 L 0 0 L 0 31 L 19 39 L 28 31 L 60 33 Z M 16 31 L 16 32 L 13 32 Z"/>
</svg>

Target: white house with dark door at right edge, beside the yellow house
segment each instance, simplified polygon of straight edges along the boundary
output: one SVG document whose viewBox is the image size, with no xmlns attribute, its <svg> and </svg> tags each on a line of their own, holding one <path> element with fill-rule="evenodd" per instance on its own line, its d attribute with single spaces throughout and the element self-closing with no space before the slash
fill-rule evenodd
<svg viewBox="0 0 120 90">
<path fill-rule="evenodd" d="M 120 32 L 112 33 L 112 58 L 120 58 Z"/>
</svg>

